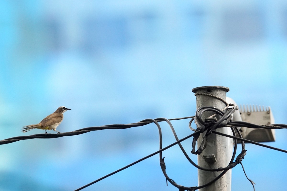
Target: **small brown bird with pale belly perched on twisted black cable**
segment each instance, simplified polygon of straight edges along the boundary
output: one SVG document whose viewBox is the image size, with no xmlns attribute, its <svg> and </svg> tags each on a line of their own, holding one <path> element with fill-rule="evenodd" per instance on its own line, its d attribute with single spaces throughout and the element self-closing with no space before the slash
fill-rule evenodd
<svg viewBox="0 0 287 191">
<path fill-rule="evenodd" d="M 47 135 L 47 130 L 53 129 L 54 131 L 56 131 L 56 128 L 58 127 L 58 125 L 60 125 L 60 123 L 63 121 L 63 117 L 64 117 L 63 113 L 65 113 L 65 111 L 68 111 L 68 110 L 71 110 L 71 109 L 61 106 L 54 113 L 45 117 L 40 123 L 22 127 L 23 129 L 22 132 L 25 133 L 32 129 L 45 129 L 45 132 Z M 59 131 L 57 132 L 60 133 Z"/>
</svg>

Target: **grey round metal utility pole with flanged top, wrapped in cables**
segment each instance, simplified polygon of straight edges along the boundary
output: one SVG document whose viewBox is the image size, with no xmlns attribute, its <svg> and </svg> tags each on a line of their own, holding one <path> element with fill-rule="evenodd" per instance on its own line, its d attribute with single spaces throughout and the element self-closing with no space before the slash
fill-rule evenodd
<svg viewBox="0 0 287 191">
<path fill-rule="evenodd" d="M 192 91 L 194 93 L 205 93 L 212 94 L 217 97 L 220 97 L 226 100 L 226 92 L 229 91 L 229 88 L 222 86 L 202 86 L 193 88 Z M 212 106 L 218 109 L 223 109 L 226 105 L 215 97 L 211 97 L 208 95 L 197 95 L 196 96 L 196 108 L 202 106 Z M 203 113 L 203 117 L 211 116 L 212 112 Z M 218 116 L 216 116 L 218 118 Z M 231 135 L 231 130 L 228 127 L 223 127 L 216 129 L 216 131 Z M 198 145 L 200 145 L 202 141 L 202 135 L 200 135 Z M 233 149 L 233 139 L 228 137 L 211 134 L 208 136 L 208 142 L 206 148 L 200 155 L 197 155 L 198 165 L 204 168 L 216 169 L 220 167 L 228 166 L 231 157 L 232 157 L 232 149 Z M 213 159 L 211 156 L 215 157 Z M 220 172 L 208 172 L 203 170 L 198 170 L 198 185 L 204 185 L 214 178 L 216 178 Z M 231 190 L 231 169 L 228 170 L 220 179 L 218 179 L 213 184 L 199 189 L 199 191 L 230 191 Z"/>
</svg>

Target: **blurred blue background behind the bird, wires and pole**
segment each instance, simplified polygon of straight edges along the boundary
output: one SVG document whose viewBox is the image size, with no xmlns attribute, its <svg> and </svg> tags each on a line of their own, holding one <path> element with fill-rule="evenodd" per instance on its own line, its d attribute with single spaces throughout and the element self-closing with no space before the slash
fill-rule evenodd
<svg viewBox="0 0 287 191">
<path fill-rule="evenodd" d="M 192 88 L 212 85 L 229 87 L 237 104 L 270 106 L 287 124 L 286 50 L 286 1 L 3 0 L 0 139 L 43 133 L 21 127 L 59 106 L 72 109 L 60 132 L 192 116 Z M 191 133 L 188 122 L 172 122 L 179 138 Z M 175 139 L 160 124 L 167 146 Z M 276 130 L 267 144 L 287 149 L 286 135 Z M 191 141 L 183 142 L 188 153 Z M 0 145 L 0 190 L 74 190 L 158 147 L 153 124 Z M 246 149 L 256 190 L 285 190 L 286 153 Z M 163 156 L 170 178 L 197 186 L 197 169 L 177 145 Z M 178 189 L 166 186 L 156 155 L 84 190 Z M 232 190 L 253 190 L 240 166 Z"/>
</svg>

